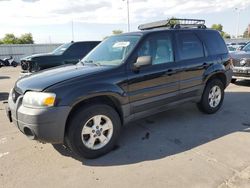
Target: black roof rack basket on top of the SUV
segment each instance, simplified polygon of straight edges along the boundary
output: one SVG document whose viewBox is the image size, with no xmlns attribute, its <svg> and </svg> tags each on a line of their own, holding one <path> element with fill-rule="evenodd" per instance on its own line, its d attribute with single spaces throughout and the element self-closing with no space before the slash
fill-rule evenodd
<svg viewBox="0 0 250 188">
<path fill-rule="evenodd" d="M 149 30 L 161 27 L 180 28 L 202 28 L 205 29 L 205 20 L 171 18 L 138 26 L 139 30 Z"/>
</svg>

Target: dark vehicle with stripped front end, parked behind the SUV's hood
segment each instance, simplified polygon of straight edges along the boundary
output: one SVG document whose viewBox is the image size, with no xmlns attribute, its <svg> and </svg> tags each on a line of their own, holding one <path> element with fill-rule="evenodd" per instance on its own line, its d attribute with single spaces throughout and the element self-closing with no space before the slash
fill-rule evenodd
<svg viewBox="0 0 250 188">
<path fill-rule="evenodd" d="M 25 57 L 21 59 L 22 72 L 32 73 L 63 64 L 76 64 L 99 43 L 100 41 L 70 42 L 51 53 Z"/>
</svg>

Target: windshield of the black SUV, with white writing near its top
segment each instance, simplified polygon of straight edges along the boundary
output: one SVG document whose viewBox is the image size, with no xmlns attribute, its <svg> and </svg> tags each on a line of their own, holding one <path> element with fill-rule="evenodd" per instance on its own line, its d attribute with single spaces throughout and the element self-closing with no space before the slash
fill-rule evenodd
<svg viewBox="0 0 250 188">
<path fill-rule="evenodd" d="M 118 66 L 133 50 L 140 36 L 112 36 L 82 59 L 82 63 Z"/>
</svg>

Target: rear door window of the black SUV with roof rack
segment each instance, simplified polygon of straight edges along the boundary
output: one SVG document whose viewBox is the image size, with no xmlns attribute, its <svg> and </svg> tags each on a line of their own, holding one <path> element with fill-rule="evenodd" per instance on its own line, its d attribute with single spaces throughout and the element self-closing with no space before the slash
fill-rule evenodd
<svg viewBox="0 0 250 188">
<path fill-rule="evenodd" d="M 178 33 L 177 47 L 180 60 L 204 57 L 203 45 L 194 33 Z"/>
</svg>

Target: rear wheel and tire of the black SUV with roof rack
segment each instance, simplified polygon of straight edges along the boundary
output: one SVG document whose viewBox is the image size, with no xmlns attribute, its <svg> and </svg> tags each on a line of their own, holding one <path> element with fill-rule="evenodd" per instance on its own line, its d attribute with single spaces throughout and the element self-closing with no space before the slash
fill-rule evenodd
<svg viewBox="0 0 250 188">
<path fill-rule="evenodd" d="M 209 81 L 203 91 L 198 108 L 207 114 L 217 112 L 224 100 L 224 85 L 219 79 Z"/>
</svg>

